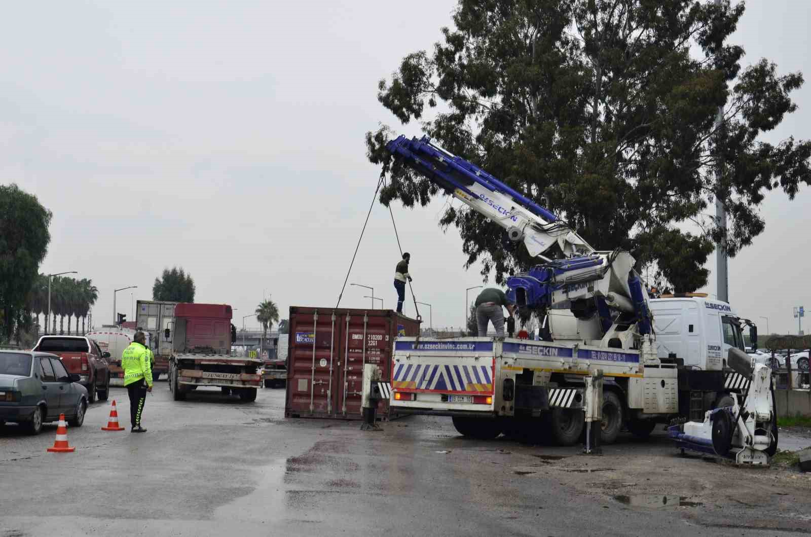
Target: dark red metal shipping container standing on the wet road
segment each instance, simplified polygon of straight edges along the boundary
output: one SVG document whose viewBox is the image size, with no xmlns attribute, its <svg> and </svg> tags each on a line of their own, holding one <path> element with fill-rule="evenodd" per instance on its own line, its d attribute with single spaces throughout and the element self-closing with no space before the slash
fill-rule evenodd
<svg viewBox="0 0 811 537">
<path fill-rule="evenodd" d="M 363 364 L 390 383 L 395 338 L 418 333 L 418 320 L 392 310 L 290 307 L 285 415 L 361 419 Z M 392 417 L 387 401 L 378 417 Z"/>
</svg>

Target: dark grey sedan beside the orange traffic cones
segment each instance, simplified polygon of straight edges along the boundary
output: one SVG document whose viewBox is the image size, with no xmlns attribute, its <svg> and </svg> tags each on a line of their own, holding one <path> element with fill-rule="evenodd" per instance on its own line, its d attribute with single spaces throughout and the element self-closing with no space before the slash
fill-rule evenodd
<svg viewBox="0 0 811 537">
<path fill-rule="evenodd" d="M 72 427 L 81 427 L 88 390 L 78 380 L 55 354 L 0 350 L 0 425 L 19 423 L 36 435 L 43 423 L 64 414 Z"/>
</svg>

